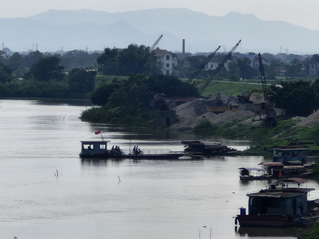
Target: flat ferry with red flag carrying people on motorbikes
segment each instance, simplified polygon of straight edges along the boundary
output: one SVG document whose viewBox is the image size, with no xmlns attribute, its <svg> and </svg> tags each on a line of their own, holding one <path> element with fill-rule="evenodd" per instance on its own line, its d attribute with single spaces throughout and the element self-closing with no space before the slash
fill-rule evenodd
<svg viewBox="0 0 319 239">
<path fill-rule="evenodd" d="M 81 141 L 82 149 L 79 154 L 83 158 L 150 158 L 178 159 L 184 154 L 169 149 L 108 149 L 107 141 Z"/>
</svg>

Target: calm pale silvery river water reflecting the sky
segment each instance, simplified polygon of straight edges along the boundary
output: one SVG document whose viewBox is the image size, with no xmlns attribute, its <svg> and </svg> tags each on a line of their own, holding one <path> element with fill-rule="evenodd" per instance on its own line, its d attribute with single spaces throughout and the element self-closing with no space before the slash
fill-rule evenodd
<svg viewBox="0 0 319 239">
<path fill-rule="evenodd" d="M 263 157 L 80 159 L 80 140 L 100 140 L 97 130 L 109 147 L 121 148 L 132 140 L 141 149 L 182 151 L 181 139 L 194 138 L 82 122 L 85 108 L 0 100 L 0 239 L 296 238 L 293 228 L 235 231 L 238 208 L 248 206 L 246 193 L 271 183 L 241 182 L 238 168 L 256 167 L 267 161 Z M 318 189 L 318 183 L 309 180 L 307 187 Z M 316 198 L 319 190 L 310 192 L 309 199 Z"/>
</svg>

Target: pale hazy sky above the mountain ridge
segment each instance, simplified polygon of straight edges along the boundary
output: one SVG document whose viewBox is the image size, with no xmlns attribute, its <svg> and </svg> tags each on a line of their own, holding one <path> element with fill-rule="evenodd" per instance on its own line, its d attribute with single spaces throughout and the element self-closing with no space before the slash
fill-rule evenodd
<svg viewBox="0 0 319 239">
<path fill-rule="evenodd" d="M 125 12 L 152 8 L 188 8 L 212 16 L 252 13 L 261 20 L 279 20 L 319 30 L 318 0 L 9 0 L 2 1 L 0 18 L 29 17 L 50 9 L 92 9 Z"/>
</svg>

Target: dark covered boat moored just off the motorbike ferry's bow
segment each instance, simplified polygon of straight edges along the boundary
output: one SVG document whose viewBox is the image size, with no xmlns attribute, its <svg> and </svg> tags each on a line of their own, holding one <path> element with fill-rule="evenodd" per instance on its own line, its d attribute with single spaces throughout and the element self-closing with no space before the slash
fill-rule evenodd
<svg viewBox="0 0 319 239">
<path fill-rule="evenodd" d="M 192 155 L 226 156 L 237 152 L 235 148 L 229 148 L 221 142 L 204 143 L 201 140 L 182 140 L 184 151 Z"/>
</svg>

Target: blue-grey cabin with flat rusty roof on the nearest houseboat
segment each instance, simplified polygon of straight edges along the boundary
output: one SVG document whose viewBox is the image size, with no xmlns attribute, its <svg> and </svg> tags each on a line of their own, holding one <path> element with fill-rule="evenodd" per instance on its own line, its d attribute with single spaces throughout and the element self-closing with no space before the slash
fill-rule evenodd
<svg viewBox="0 0 319 239">
<path fill-rule="evenodd" d="M 249 215 L 282 215 L 296 216 L 308 211 L 308 192 L 314 188 L 300 188 L 300 184 L 307 180 L 301 178 L 288 178 L 278 181 L 277 184 L 270 184 L 269 188 L 259 192 L 247 194 Z M 279 185 L 281 184 L 282 185 Z M 297 187 L 289 187 L 297 185 Z M 279 187 L 277 187 L 277 185 Z"/>
</svg>

